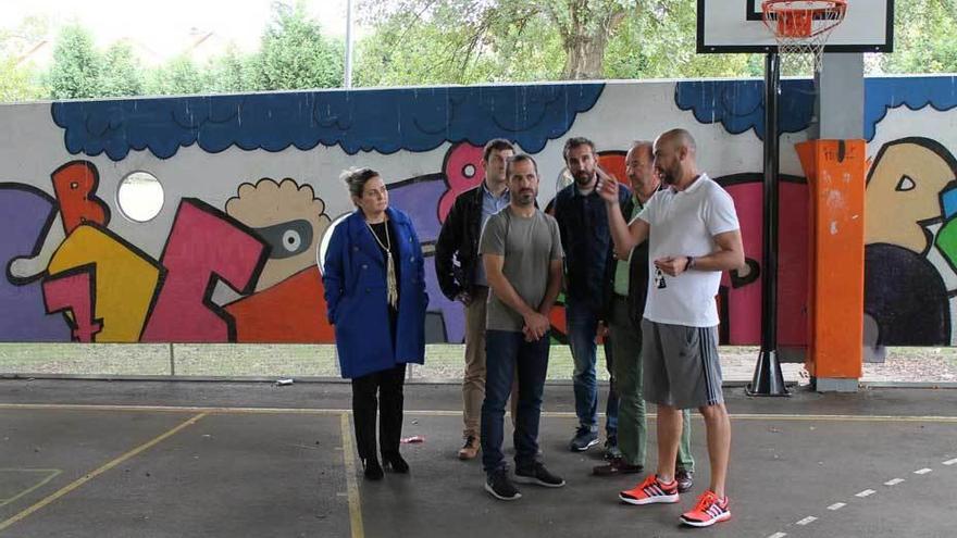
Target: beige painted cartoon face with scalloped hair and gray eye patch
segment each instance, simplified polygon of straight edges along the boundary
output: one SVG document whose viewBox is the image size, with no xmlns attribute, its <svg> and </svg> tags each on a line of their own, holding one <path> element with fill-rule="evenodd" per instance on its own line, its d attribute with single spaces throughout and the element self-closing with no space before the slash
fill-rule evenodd
<svg viewBox="0 0 957 538">
<path fill-rule="evenodd" d="M 315 247 L 331 224 L 325 202 L 312 187 L 286 178 L 260 179 L 239 186 L 226 202 L 226 213 L 252 228 L 272 250 L 256 291 L 270 288 L 315 263 Z"/>
</svg>

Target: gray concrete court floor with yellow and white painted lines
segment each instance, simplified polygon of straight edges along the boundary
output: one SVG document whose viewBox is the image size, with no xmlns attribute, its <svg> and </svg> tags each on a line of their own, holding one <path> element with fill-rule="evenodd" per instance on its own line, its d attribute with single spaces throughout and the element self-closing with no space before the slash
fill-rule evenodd
<svg viewBox="0 0 957 538">
<path fill-rule="evenodd" d="M 564 448 L 568 384 L 546 387 L 539 437 L 568 486 L 506 503 L 455 459 L 453 385 L 407 386 L 403 435 L 426 440 L 403 446 L 411 475 L 366 483 L 346 384 L 0 380 L 0 538 L 957 536 L 957 390 L 725 397 L 734 517 L 692 529 L 678 515 L 707 485 L 700 420 L 695 495 L 624 505 L 637 477 L 589 476 L 600 451 Z"/>
</svg>

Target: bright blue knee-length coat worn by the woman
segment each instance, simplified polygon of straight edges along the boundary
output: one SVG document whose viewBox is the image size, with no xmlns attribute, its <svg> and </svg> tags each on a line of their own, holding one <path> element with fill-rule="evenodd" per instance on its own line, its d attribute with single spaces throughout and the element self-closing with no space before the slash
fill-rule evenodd
<svg viewBox="0 0 957 538">
<path fill-rule="evenodd" d="M 356 210 L 333 230 L 325 254 L 326 315 L 335 325 L 343 377 L 360 377 L 425 359 L 424 260 L 406 213 L 386 209 L 399 240 L 399 312 L 393 346 L 386 301 L 385 257 Z"/>
</svg>

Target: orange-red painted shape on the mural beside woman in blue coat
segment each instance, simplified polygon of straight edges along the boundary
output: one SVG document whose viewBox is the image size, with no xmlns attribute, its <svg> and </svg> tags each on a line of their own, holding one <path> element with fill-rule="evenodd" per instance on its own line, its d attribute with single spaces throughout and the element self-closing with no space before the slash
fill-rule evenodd
<svg viewBox="0 0 957 538">
<path fill-rule="evenodd" d="M 309 267 L 253 296 L 226 305 L 237 342 L 333 343 L 325 317 L 322 276 Z"/>
</svg>

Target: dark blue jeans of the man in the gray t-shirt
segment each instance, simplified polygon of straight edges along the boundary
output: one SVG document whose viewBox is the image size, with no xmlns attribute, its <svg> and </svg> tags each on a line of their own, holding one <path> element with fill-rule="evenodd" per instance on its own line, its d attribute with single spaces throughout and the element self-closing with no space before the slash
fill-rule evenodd
<svg viewBox="0 0 957 538">
<path fill-rule="evenodd" d="M 505 468 L 505 405 L 519 376 L 518 416 L 514 417 L 515 467 L 527 468 L 538 454 L 538 420 L 548 372 L 549 335 L 526 342 L 522 333 L 485 334 L 485 401 L 482 403 L 482 466 L 486 473 Z M 518 365 L 518 368 L 515 366 Z"/>
</svg>

